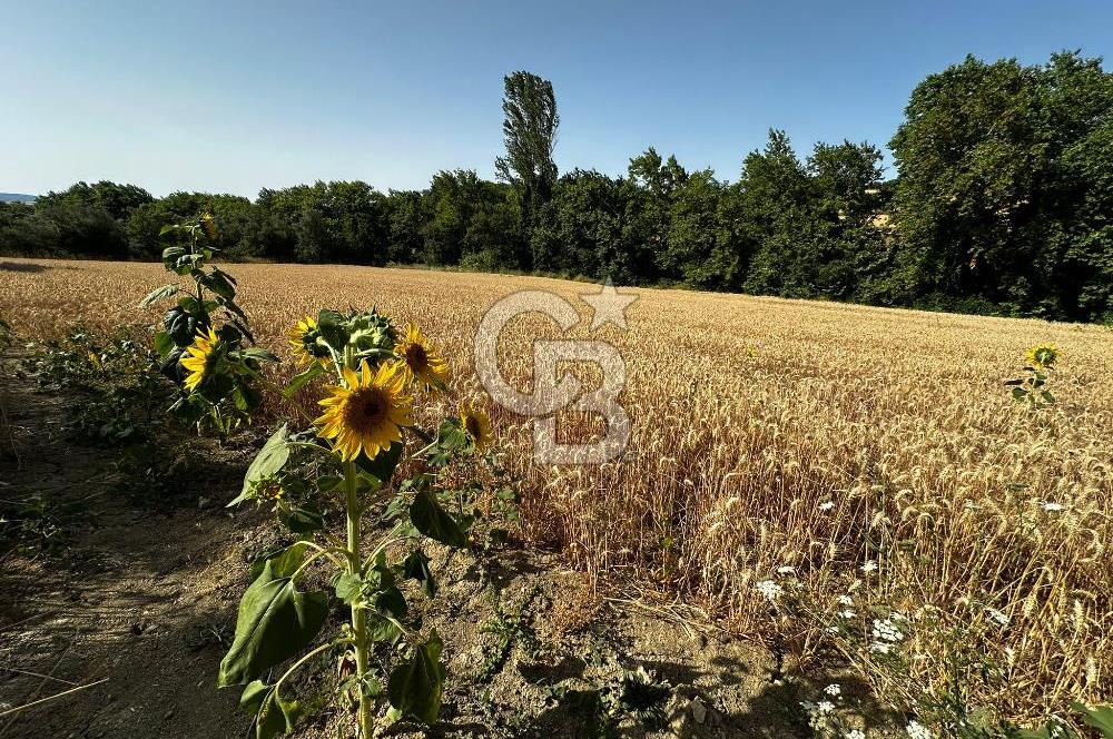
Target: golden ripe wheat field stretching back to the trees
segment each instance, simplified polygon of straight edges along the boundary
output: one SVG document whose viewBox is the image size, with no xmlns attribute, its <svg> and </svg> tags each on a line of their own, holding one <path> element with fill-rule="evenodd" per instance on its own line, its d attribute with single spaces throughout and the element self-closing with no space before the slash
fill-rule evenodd
<svg viewBox="0 0 1113 739">
<path fill-rule="evenodd" d="M 43 269 L 0 265 L 0 314 L 22 337 L 79 317 L 110 326 L 157 315 L 134 306 L 164 282 L 159 265 L 33 264 Z M 265 346 L 284 351 L 283 332 L 304 313 L 377 304 L 439 341 L 466 394 L 479 391 L 471 339 L 486 307 L 515 289 L 591 289 L 361 267 L 229 269 Z M 620 463 L 535 466 L 522 420 L 492 408 L 526 482 L 531 538 L 591 574 L 684 593 L 752 634 L 770 623 L 754 583 L 782 565 L 819 610 L 851 587 L 859 600 L 936 607 L 974 628 L 988 605 L 1011 619 L 993 632 L 1011 656 L 1003 686 L 975 686 L 983 700 L 1031 718 L 1113 692 L 1110 332 L 676 290 L 642 290 L 628 319 L 628 334 L 593 336 L 627 362 L 634 436 Z M 589 335 L 585 324 L 573 333 Z M 516 323 L 504 336 L 504 373 L 524 387 L 529 336 Z M 1001 381 L 1043 341 L 1063 353 L 1060 402 L 1033 414 Z M 585 431 L 567 421 L 569 439 Z M 863 578 L 869 559 L 880 571 Z M 923 654 L 914 673 L 938 680 L 942 644 L 917 633 L 913 649 Z"/>
</svg>

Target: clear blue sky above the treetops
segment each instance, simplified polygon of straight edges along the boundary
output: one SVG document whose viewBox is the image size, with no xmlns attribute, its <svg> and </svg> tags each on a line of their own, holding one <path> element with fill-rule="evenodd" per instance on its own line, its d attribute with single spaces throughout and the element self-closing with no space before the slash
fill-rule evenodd
<svg viewBox="0 0 1113 739">
<path fill-rule="evenodd" d="M 515 69 L 553 82 L 561 171 L 654 146 L 736 179 L 769 127 L 885 146 L 967 52 L 1075 48 L 1113 61 L 1113 2 L 0 0 L 0 191 L 491 177 Z"/>
</svg>

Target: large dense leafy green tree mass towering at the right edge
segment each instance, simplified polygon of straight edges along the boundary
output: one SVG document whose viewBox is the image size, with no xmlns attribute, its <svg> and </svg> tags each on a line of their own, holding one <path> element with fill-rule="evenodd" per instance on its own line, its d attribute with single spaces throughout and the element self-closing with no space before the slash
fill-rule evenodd
<svg viewBox="0 0 1113 739">
<path fill-rule="evenodd" d="M 1094 206 L 1109 197 L 1097 162 L 1111 110 L 1113 75 L 1077 52 L 1033 67 L 972 56 L 916 86 L 890 144 L 904 298 L 1105 311 L 1109 289 L 1090 280 L 1104 269 L 1107 211 Z"/>
</svg>

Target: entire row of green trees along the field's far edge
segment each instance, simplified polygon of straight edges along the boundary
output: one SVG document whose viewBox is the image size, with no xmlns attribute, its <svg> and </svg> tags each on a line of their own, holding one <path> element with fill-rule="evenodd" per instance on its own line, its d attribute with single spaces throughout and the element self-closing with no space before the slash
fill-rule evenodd
<svg viewBox="0 0 1113 739">
<path fill-rule="evenodd" d="M 552 85 L 504 80 L 496 180 L 318 181 L 248 198 L 78 183 L 0 204 L 8 255 L 156 259 L 208 211 L 233 259 L 423 264 L 618 284 L 1113 322 L 1113 75 L 967 57 L 913 90 L 883 178 L 869 142 L 798 154 L 771 130 L 733 181 L 654 148 L 624 175 L 559 174 Z"/>
</svg>

